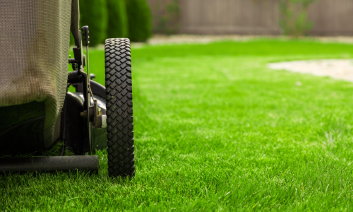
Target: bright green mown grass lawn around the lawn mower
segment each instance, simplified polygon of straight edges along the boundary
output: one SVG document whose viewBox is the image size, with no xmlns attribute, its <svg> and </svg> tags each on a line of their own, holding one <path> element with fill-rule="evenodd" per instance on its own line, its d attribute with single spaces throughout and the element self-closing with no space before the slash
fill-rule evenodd
<svg viewBox="0 0 353 212">
<path fill-rule="evenodd" d="M 0 176 L 0 211 L 352 211 L 353 83 L 266 68 L 352 57 L 308 40 L 132 49 L 135 179 L 109 179 L 104 152 L 99 175 Z"/>
</svg>

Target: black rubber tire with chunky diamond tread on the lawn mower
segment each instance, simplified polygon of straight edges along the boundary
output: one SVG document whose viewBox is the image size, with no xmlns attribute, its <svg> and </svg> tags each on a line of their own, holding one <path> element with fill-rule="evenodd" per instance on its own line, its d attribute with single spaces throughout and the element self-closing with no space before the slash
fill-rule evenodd
<svg viewBox="0 0 353 212">
<path fill-rule="evenodd" d="M 127 38 L 105 40 L 109 177 L 135 176 L 131 50 Z"/>
</svg>

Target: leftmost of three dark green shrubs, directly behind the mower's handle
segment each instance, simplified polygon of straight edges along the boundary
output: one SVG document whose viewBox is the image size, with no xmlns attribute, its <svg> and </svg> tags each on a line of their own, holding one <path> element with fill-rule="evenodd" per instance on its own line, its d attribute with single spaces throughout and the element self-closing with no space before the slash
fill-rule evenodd
<svg viewBox="0 0 353 212">
<path fill-rule="evenodd" d="M 80 0 L 80 26 L 88 25 L 90 46 L 104 43 L 107 39 L 106 0 Z"/>
</svg>

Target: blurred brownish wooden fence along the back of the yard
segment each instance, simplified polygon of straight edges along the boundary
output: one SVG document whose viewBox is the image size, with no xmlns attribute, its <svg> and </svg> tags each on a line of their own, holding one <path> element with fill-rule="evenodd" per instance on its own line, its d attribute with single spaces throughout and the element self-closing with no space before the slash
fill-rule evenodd
<svg viewBox="0 0 353 212">
<path fill-rule="evenodd" d="M 201 35 L 282 33 L 279 0 L 148 1 L 157 32 L 173 28 L 171 33 Z M 309 20 L 314 23 L 311 35 L 353 35 L 353 0 L 318 0 L 309 7 Z"/>
</svg>

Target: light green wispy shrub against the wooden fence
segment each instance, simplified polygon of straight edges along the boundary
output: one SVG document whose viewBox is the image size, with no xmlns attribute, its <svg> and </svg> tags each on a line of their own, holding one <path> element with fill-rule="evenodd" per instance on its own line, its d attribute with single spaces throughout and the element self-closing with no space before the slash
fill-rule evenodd
<svg viewBox="0 0 353 212">
<path fill-rule="evenodd" d="M 280 27 L 284 35 L 300 37 L 313 28 L 308 8 L 316 0 L 280 0 Z"/>
</svg>

